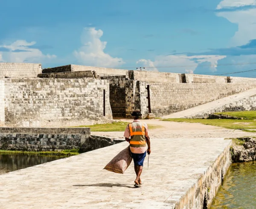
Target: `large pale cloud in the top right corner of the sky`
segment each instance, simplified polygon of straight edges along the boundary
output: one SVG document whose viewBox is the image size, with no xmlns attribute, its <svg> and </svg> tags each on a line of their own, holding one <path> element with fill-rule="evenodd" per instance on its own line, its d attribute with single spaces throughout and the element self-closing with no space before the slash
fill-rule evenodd
<svg viewBox="0 0 256 209">
<path fill-rule="evenodd" d="M 217 9 L 256 6 L 256 0 L 223 0 Z M 238 31 L 230 41 L 229 46 L 241 46 L 256 39 L 256 8 L 241 9 L 229 12 L 217 12 L 217 16 L 224 17 L 231 23 L 238 25 Z"/>
</svg>

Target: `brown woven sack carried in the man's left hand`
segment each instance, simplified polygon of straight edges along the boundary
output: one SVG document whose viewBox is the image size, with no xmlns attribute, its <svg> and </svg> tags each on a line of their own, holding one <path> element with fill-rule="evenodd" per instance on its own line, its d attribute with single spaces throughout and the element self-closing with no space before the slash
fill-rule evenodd
<svg viewBox="0 0 256 209">
<path fill-rule="evenodd" d="M 131 164 L 132 157 L 129 146 L 119 152 L 104 169 L 115 173 L 123 174 L 128 166 Z"/>
</svg>

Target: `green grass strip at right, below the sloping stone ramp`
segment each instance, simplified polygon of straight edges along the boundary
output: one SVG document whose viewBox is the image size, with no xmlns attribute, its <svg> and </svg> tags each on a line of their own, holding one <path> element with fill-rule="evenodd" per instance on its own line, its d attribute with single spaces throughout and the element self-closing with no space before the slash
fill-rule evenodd
<svg viewBox="0 0 256 209">
<path fill-rule="evenodd" d="M 250 129 L 256 129 L 256 121 L 254 120 L 232 120 L 232 119 L 183 119 L 183 118 L 170 118 L 163 119 L 163 121 L 171 122 L 189 122 L 189 123 L 201 123 L 205 125 L 214 125 L 223 128 L 240 129 L 250 131 Z M 249 129 L 249 130 L 248 130 Z M 250 131 L 256 132 L 256 131 Z"/>
</svg>

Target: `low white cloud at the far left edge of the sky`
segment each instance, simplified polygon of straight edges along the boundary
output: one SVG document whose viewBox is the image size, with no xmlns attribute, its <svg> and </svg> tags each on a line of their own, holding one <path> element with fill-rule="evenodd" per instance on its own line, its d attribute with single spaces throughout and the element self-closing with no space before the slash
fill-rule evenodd
<svg viewBox="0 0 256 209">
<path fill-rule="evenodd" d="M 4 52 L 0 52 L 0 61 L 42 62 L 45 59 L 56 58 L 56 55 L 44 55 L 39 49 L 34 49 L 32 46 L 35 44 L 35 41 L 29 43 L 24 40 L 17 40 L 10 45 L 0 45 L 0 48 L 6 49 Z"/>
</svg>

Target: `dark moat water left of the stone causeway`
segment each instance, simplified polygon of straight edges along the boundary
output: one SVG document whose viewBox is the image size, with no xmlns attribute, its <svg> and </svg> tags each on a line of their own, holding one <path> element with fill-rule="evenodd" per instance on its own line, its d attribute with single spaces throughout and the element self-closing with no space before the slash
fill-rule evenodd
<svg viewBox="0 0 256 209">
<path fill-rule="evenodd" d="M 64 157 L 23 154 L 0 154 L 0 174 L 47 163 Z"/>
</svg>

